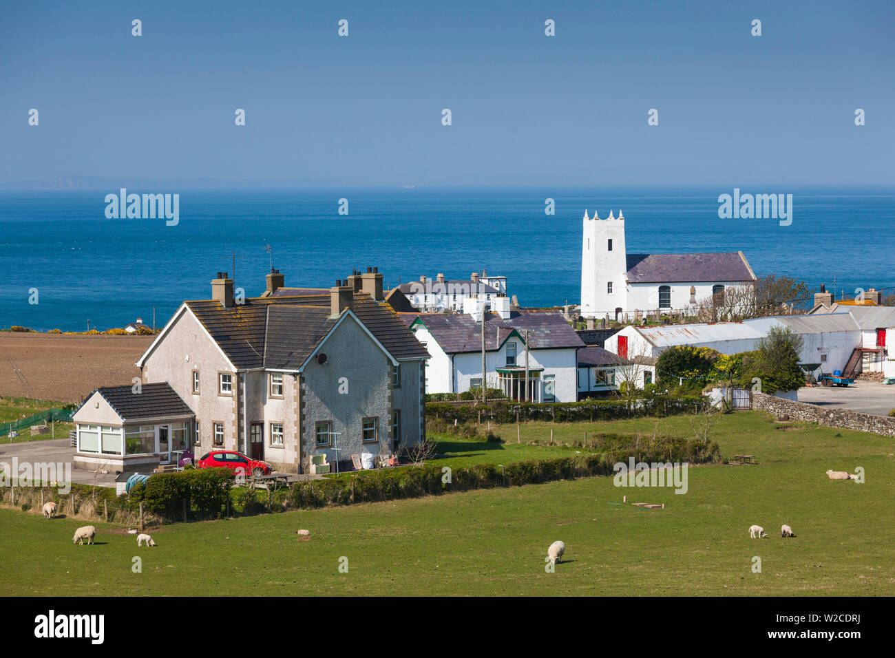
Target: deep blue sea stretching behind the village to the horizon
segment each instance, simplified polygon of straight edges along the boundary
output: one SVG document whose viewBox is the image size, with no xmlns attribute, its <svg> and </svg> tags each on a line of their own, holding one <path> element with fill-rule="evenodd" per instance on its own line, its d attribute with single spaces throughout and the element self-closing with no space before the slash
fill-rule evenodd
<svg viewBox="0 0 895 658">
<path fill-rule="evenodd" d="M 621 210 L 631 253 L 741 251 L 759 277 L 838 297 L 895 289 L 895 189 L 742 190 L 792 193 L 788 226 L 720 218 L 733 190 L 718 187 L 128 192 L 177 192 L 179 221 L 107 218 L 117 189 L 0 192 L 0 328 L 161 327 L 183 300 L 208 299 L 217 272 L 254 296 L 271 266 L 310 287 L 367 267 L 387 287 L 487 270 L 523 306 L 579 303 L 585 209 Z"/>
</svg>

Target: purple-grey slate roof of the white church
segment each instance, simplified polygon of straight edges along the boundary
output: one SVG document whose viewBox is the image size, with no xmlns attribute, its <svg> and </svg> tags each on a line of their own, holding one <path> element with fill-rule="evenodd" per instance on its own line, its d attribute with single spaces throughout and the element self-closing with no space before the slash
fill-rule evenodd
<svg viewBox="0 0 895 658">
<path fill-rule="evenodd" d="M 631 283 L 755 280 L 743 252 L 629 253 L 626 265 Z"/>
</svg>

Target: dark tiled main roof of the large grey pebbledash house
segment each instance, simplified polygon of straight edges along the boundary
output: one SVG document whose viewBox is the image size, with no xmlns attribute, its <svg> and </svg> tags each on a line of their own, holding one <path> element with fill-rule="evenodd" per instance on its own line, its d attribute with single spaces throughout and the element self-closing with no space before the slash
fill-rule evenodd
<svg viewBox="0 0 895 658">
<path fill-rule="evenodd" d="M 335 326 L 335 320 L 327 322 L 329 293 L 286 296 L 277 295 L 279 292 L 269 297 L 247 298 L 230 308 L 216 300 L 186 304 L 237 368 L 297 368 L 303 363 L 297 363 L 300 356 L 311 355 L 326 332 Z M 387 303 L 357 294 L 352 310 L 396 359 L 429 356 Z"/>
</svg>

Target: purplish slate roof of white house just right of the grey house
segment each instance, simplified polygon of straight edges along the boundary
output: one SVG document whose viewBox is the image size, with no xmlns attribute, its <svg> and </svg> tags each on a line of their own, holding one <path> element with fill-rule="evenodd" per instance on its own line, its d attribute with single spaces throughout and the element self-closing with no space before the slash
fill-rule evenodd
<svg viewBox="0 0 895 658">
<path fill-rule="evenodd" d="M 412 318 L 411 318 L 412 316 Z M 419 319 L 429 329 L 447 354 L 480 352 L 482 350 L 482 325 L 472 316 L 460 313 L 407 313 L 405 320 Z M 525 339 L 529 330 L 530 349 L 584 347 L 584 342 L 560 313 L 513 312 L 507 320 L 496 313 L 488 313 L 485 320 L 485 350 L 493 351 L 510 337 L 513 330 Z"/>
</svg>

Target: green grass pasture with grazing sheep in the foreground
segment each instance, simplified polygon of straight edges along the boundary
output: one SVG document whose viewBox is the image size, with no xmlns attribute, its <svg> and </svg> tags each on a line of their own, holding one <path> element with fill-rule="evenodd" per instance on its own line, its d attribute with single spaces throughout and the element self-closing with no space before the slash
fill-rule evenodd
<svg viewBox="0 0 895 658">
<path fill-rule="evenodd" d="M 652 432 L 653 423 L 556 424 L 554 438 L 585 427 Z M 516 450 L 564 450 L 524 445 L 526 434 L 549 439 L 550 426 L 524 425 L 519 446 L 479 444 L 447 459 L 505 463 Z M 692 435 L 686 417 L 662 429 Z M 516 426 L 499 433 L 515 437 Z M 712 438 L 725 455 L 754 454 L 759 466 L 691 468 L 685 495 L 590 478 L 166 526 L 152 531 L 151 549 L 101 524 L 97 545 L 72 546 L 83 522 L 4 508 L 0 594 L 895 594 L 891 439 L 758 412 L 724 417 Z M 857 466 L 866 483 L 824 474 Z M 624 493 L 666 508 L 609 504 Z M 797 538 L 780 538 L 783 523 Z M 750 540 L 752 524 L 771 537 Z M 299 528 L 310 541 L 296 540 Z M 545 573 L 557 539 L 565 559 Z M 141 573 L 132 573 L 134 556 Z"/>
</svg>

